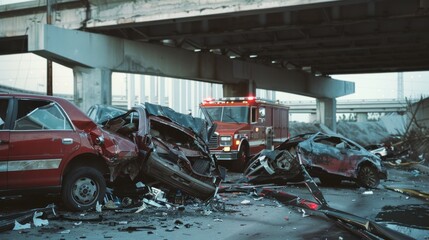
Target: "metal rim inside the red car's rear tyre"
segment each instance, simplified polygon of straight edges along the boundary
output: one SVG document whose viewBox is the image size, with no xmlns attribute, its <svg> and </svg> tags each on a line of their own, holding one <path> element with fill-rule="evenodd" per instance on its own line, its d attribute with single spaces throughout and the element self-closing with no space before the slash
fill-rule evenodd
<svg viewBox="0 0 429 240">
<path fill-rule="evenodd" d="M 82 205 L 89 205 L 98 197 L 98 184 L 91 178 L 79 178 L 72 189 L 74 201 Z"/>
</svg>

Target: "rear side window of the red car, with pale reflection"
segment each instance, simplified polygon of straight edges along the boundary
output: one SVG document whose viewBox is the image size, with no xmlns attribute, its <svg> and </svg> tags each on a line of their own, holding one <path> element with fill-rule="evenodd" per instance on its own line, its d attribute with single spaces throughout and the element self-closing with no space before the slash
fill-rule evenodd
<svg viewBox="0 0 429 240">
<path fill-rule="evenodd" d="M 72 126 L 57 104 L 49 101 L 19 100 L 14 130 L 71 130 Z"/>
</svg>

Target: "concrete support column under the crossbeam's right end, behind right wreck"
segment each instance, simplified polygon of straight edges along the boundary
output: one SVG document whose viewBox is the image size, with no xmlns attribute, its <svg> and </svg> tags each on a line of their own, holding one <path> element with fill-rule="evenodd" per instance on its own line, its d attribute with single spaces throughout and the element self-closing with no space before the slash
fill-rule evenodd
<svg viewBox="0 0 429 240">
<path fill-rule="evenodd" d="M 329 127 L 332 131 L 337 131 L 337 100 L 335 98 L 317 98 L 317 120 Z"/>
</svg>

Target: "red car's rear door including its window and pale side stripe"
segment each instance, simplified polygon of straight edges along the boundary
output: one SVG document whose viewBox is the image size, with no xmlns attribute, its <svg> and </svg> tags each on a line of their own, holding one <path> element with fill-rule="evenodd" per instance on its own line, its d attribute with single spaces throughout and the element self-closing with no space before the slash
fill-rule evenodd
<svg viewBox="0 0 429 240">
<path fill-rule="evenodd" d="M 55 102 L 19 99 L 14 105 L 8 188 L 60 186 L 60 164 L 79 148 L 79 134 Z"/>
</svg>

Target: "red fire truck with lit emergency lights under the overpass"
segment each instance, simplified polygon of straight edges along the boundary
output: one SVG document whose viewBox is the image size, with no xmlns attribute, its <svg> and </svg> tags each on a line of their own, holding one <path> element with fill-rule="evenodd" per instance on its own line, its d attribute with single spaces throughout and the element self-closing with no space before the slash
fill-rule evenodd
<svg viewBox="0 0 429 240">
<path fill-rule="evenodd" d="M 209 147 L 219 161 L 232 161 L 242 171 L 250 156 L 271 149 L 289 137 L 289 108 L 256 97 L 206 99 L 205 117 L 217 124 Z"/>
</svg>

